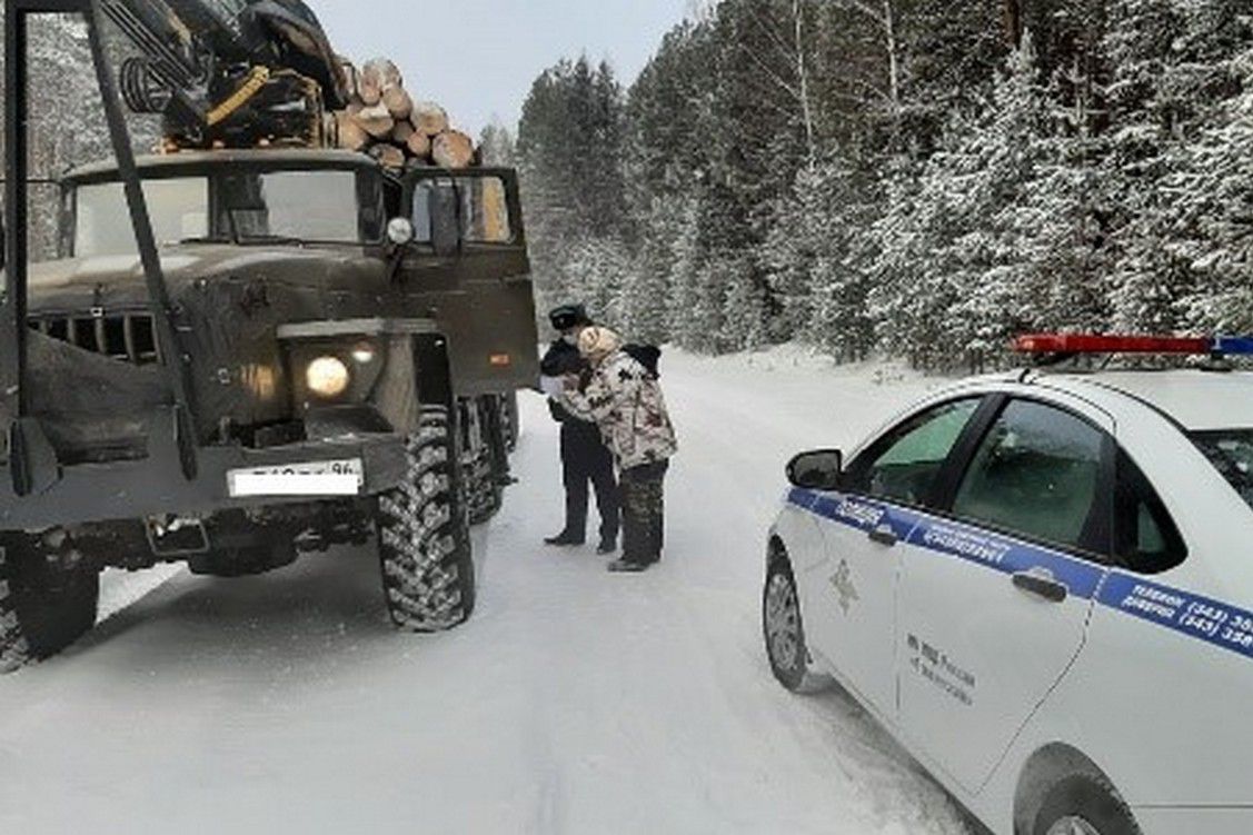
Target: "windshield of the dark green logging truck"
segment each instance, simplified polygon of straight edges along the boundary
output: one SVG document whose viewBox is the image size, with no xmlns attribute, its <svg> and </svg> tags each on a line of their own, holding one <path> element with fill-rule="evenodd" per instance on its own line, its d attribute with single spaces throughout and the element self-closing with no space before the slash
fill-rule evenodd
<svg viewBox="0 0 1253 835">
<path fill-rule="evenodd" d="M 351 171 L 238 172 L 221 178 L 144 181 L 157 246 L 187 241 L 360 243 Z M 135 255 L 122 183 L 75 192 L 74 255 Z"/>
</svg>

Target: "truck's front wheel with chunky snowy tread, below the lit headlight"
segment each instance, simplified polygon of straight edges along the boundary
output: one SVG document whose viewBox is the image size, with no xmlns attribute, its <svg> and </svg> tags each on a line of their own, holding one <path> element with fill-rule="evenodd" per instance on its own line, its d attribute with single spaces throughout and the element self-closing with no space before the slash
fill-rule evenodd
<svg viewBox="0 0 1253 835">
<path fill-rule="evenodd" d="M 375 519 L 387 609 L 402 629 L 450 629 L 474 611 L 475 570 L 447 409 L 422 407 L 406 455 L 408 474 L 378 496 Z"/>
</svg>

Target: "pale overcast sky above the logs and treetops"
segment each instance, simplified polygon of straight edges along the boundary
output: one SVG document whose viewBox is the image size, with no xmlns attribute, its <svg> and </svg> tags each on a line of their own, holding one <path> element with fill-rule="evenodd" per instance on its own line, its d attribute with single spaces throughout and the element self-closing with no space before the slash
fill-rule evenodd
<svg viewBox="0 0 1253 835">
<path fill-rule="evenodd" d="M 531 81 L 564 56 L 608 59 L 629 84 L 690 0 L 306 0 L 358 65 L 386 55 L 416 98 L 477 137 L 510 128 Z"/>
</svg>

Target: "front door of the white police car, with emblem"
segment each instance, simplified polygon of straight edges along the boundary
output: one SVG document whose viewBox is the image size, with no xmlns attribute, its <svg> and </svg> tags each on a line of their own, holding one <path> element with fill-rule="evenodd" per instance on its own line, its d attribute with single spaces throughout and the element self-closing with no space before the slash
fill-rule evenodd
<svg viewBox="0 0 1253 835">
<path fill-rule="evenodd" d="M 851 463 L 841 491 L 812 505 L 827 548 L 802 583 L 807 638 L 887 720 L 896 715 L 897 545 L 908 539 L 979 404 L 951 400 L 910 418 Z"/>
</svg>

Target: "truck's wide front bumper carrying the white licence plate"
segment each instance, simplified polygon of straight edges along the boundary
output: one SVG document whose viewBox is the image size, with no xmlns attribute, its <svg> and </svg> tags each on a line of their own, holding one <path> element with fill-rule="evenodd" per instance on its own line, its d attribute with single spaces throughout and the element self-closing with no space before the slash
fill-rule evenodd
<svg viewBox="0 0 1253 835">
<path fill-rule="evenodd" d="M 11 461 L 0 464 L 0 530 L 370 496 L 405 478 L 405 438 L 386 433 L 267 449 L 202 446 L 197 476 L 189 480 L 179 470 L 173 412 L 155 423 L 167 430 L 154 433 L 148 458 L 56 468 L 21 500 Z"/>
</svg>

